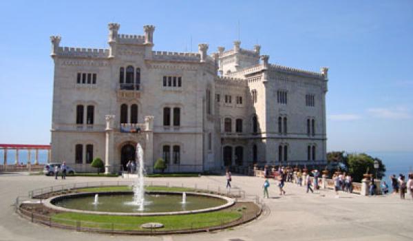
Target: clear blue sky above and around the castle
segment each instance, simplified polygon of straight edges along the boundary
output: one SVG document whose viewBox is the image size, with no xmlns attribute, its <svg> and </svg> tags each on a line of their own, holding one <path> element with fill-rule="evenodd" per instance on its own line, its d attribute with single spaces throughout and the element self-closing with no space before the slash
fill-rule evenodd
<svg viewBox="0 0 413 241">
<path fill-rule="evenodd" d="M 53 61 L 61 45 L 107 48 L 107 23 L 155 50 L 242 48 L 270 62 L 330 67 L 328 150 L 413 151 L 413 1 L 1 1 L 0 143 L 49 143 Z M 191 45 L 192 39 L 192 45 Z"/>
</svg>

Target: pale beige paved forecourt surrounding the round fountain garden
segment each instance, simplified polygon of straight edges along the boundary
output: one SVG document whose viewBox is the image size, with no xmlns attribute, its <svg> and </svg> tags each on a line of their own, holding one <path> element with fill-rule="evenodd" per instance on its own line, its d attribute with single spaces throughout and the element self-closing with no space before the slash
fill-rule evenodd
<svg viewBox="0 0 413 241">
<path fill-rule="evenodd" d="M 225 186 L 224 176 L 200 178 L 148 178 L 180 184 Z M 304 187 L 287 183 L 286 196 L 279 196 L 271 180 L 268 209 L 253 222 L 213 233 L 164 236 L 128 236 L 81 233 L 33 224 L 14 213 L 16 196 L 31 189 L 74 182 L 116 181 L 121 178 L 68 177 L 0 174 L 0 240 L 413 240 L 413 200 L 399 196 L 365 197 L 332 190 L 306 193 Z M 264 179 L 233 176 L 233 187 L 262 196 Z"/>
</svg>

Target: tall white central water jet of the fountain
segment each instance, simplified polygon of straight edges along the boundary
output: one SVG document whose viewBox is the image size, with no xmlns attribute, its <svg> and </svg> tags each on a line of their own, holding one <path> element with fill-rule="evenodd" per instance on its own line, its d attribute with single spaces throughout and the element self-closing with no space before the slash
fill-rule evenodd
<svg viewBox="0 0 413 241">
<path fill-rule="evenodd" d="M 144 163 L 143 150 L 139 143 L 136 145 L 136 165 L 139 165 L 139 168 L 134 184 L 134 203 L 139 206 L 139 211 L 143 211 L 145 205 Z"/>
</svg>

